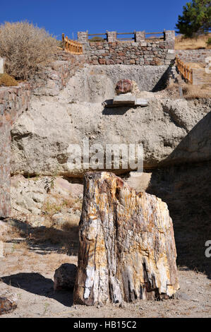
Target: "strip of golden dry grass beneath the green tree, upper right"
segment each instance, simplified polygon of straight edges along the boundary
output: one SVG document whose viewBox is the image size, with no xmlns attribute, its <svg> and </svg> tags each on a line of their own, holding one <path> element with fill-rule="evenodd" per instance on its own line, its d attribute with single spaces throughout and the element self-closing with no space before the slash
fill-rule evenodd
<svg viewBox="0 0 211 332">
<path fill-rule="evenodd" d="M 211 33 L 200 35 L 197 38 L 184 38 L 183 35 L 176 36 L 175 49 L 208 49 L 207 40 L 211 37 Z"/>
</svg>

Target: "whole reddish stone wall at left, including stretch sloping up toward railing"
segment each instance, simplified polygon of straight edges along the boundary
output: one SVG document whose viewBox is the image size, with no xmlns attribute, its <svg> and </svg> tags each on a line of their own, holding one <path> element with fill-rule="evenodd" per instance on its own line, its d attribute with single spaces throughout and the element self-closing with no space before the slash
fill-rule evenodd
<svg viewBox="0 0 211 332">
<path fill-rule="evenodd" d="M 56 54 L 54 63 L 37 73 L 31 83 L 0 87 L 0 218 L 10 215 L 11 128 L 28 109 L 31 95 L 57 95 L 86 61 L 84 55 Z"/>
</svg>

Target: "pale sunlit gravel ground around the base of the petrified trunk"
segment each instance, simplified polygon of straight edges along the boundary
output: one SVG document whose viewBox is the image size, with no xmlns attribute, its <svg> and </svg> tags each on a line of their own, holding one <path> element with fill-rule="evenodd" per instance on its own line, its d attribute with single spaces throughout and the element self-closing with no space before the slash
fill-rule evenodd
<svg viewBox="0 0 211 332">
<path fill-rule="evenodd" d="M 0 292 L 9 290 L 18 295 L 18 307 L 6 317 L 210 317 L 211 281 L 204 273 L 179 267 L 181 289 L 175 299 L 140 300 L 104 307 L 73 304 L 73 292 L 54 292 L 54 271 L 61 263 L 77 263 L 77 256 L 54 251 L 46 254 L 28 249 L 23 242 L 7 243 L 6 256 L 0 259 Z"/>
</svg>

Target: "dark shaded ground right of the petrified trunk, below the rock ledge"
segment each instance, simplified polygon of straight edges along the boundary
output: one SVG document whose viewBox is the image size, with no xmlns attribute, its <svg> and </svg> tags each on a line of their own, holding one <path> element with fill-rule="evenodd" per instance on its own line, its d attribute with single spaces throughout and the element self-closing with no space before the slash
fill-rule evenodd
<svg viewBox="0 0 211 332">
<path fill-rule="evenodd" d="M 166 202 L 173 225 L 177 265 L 211 278 L 205 242 L 211 239 L 211 162 L 152 170 L 149 194 Z"/>
</svg>

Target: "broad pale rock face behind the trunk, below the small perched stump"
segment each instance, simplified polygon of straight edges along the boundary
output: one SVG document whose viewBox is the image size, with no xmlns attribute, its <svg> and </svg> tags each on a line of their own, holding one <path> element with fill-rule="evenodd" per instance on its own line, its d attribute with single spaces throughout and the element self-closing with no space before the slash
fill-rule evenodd
<svg viewBox="0 0 211 332">
<path fill-rule="evenodd" d="M 30 109 L 14 124 L 13 174 L 82 177 L 82 169 L 68 168 L 68 146 L 78 144 L 83 151 L 83 139 L 89 141 L 90 147 L 100 143 L 104 150 L 106 144 L 142 143 L 145 168 L 167 164 L 170 155 L 173 163 L 210 160 L 211 131 L 195 126 L 210 112 L 209 100 L 169 100 L 151 93 L 147 107 L 109 109 L 99 102 L 80 102 L 80 91 L 71 97 L 71 84 L 70 81 L 57 97 L 32 97 Z M 180 144 L 187 135 L 185 144 Z"/>
</svg>

